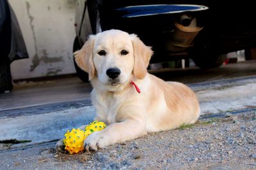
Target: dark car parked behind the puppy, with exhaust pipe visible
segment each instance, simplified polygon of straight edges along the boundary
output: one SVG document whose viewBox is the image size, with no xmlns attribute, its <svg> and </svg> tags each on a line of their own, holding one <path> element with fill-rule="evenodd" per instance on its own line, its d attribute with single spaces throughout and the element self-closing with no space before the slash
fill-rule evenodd
<svg viewBox="0 0 256 170">
<path fill-rule="evenodd" d="M 89 34 L 120 29 L 152 46 L 151 64 L 190 58 L 202 69 L 219 67 L 226 53 L 256 46 L 253 11 L 250 1 L 79 0 L 74 51 Z"/>
</svg>

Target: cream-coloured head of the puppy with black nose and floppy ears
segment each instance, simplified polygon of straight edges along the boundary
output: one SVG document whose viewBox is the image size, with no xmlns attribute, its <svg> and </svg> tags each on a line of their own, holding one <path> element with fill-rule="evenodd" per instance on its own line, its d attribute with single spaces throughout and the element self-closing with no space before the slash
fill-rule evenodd
<svg viewBox="0 0 256 170">
<path fill-rule="evenodd" d="M 135 34 L 109 30 L 90 36 L 74 54 L 77 65 L 89 74 L 89 80 L 98 78 L 103 85 L 115 88 L 132 76 L 143 79 L 152 53 Z"/>
</svg>

